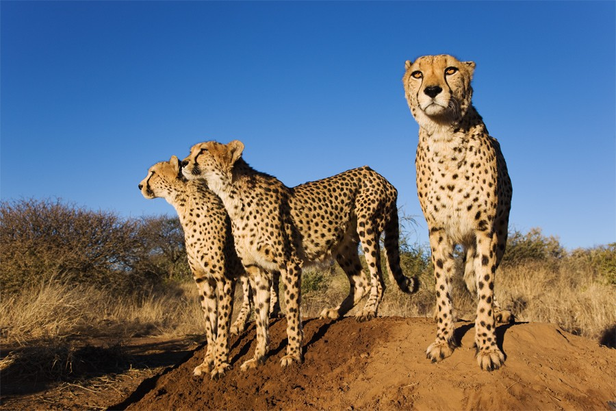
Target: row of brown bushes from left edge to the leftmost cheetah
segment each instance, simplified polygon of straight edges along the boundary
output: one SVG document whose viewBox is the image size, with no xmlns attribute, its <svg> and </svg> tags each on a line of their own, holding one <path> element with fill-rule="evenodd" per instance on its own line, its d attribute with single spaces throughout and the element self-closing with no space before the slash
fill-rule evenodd
<svg viewBox="0 0 616 411">
<path fill-rule="evenodd" d="M 57 279 L 118 291 L 188 276 L 179 220 L 122 219 L 60 199 L 0 203 L 3 292 Z"/>
</svg>

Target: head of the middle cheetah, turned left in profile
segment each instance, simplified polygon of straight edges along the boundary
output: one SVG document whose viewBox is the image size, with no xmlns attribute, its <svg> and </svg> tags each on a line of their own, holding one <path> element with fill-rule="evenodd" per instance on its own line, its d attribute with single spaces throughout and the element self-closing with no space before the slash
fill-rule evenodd
<svg viewBox="0 0 616 411">
<path fill-rule="evenodd" d="M 226 145 L 216 141 L 200 142 L 191 147 L 190 154 L 182 161 L 184 176 L 205 179 L 213 190 L 220 184 L 228 184 L 233 179 L 233 166 L 242 151 L 244 144 L 239 140 Z"/>
</svg>

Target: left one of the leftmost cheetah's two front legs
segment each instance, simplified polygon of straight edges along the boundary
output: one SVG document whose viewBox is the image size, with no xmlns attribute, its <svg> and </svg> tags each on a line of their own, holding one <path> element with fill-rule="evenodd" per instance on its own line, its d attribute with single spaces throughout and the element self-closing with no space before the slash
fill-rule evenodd
<svg viewBox="0 0 616 411">
<path fill-rule="evenodd" d="M 199 299 L 201 299 L 201 308 L 205 316 L 205 337 L 207 338 L 207 349 L 205 351 L 205 359 L 203 363 L 195 367 L 193 375 L 202 375 L 209 373 L 214 367 L 214 357 L 216 353 L 216 332 L 218 329 L 218 314 L 216 304 L 216 283 L 213 279 L 207 277 L 194 277 L 197 289 L 199 291 Z"/>
</svg>

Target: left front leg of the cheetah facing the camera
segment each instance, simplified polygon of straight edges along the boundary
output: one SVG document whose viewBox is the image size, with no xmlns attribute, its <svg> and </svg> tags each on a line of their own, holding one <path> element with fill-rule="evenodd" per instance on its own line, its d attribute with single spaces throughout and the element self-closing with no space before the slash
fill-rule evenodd
<svg viewBox="0 0 616 411">
<path fill-rule="evenodd" d="M 426 350 L 426 356 L 432 362 L 437 362 L 450 356 L 456 347 L 450 286 L 450 278 L 454 273 L 455 264 L 452 255 L 453 245 L 444 229 L 432 228 L 430 230 L 430 247 L 436 282 L 437 338 Z"/>
</svg>

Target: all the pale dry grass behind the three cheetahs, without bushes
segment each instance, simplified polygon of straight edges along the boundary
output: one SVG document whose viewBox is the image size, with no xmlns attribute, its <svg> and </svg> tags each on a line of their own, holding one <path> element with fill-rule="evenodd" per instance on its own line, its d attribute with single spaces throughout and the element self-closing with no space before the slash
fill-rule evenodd
<svg viewBox="0 0 616 411">
<path fill-rule="evenodd" d="M 431 269 L 426 266 L 416 274 L 421 286 L 411 296 L 385 279 L 387 289 L 380 315 L 432 316 L 435 295 Z M 336 306 L 348 292 L 346 275 L 337 266 L 333 270 L 306 270 L 304 284 L 303 315 L 309 317 Z M 452 286 L 458 315 L 472 317 L 475 297 L 467 292 L 460 276 L 454 278 Z M 594 339 L 602 338 L 605 330 L 616 324 L 615 284 L 606 279 L 597 264 L 579 256 L 502 266 L 495 291 L 501 305 L 512 310 L 519 321 L 557 323 L 569 332 Z M 241 298 L 238 290 L 236 306 Z M 0 301 L 0 330 L 5 344 L 91 336 L 201 335 L 203 329 L 192 282 L 116 295 L 96 286 L 51 281 Z"/>
</svg>

